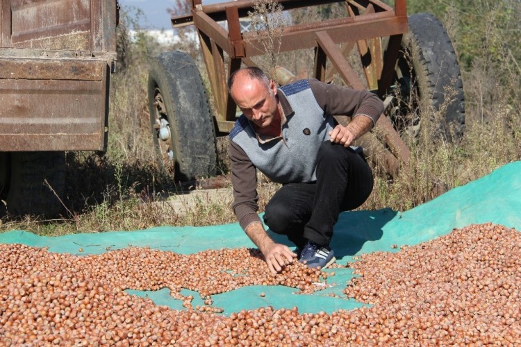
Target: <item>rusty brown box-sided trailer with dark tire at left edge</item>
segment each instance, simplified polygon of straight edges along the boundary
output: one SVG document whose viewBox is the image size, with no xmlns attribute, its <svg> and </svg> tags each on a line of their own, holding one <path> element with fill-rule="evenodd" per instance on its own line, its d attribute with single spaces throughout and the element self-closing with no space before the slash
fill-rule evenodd
<svg viewBox="0 0 521 347">
<path fill-rule="evenodd" d="M 64 208 L 65 151 L 105 151 L 117 0 L 1 0 L 0 212 Z"/>
</svg>

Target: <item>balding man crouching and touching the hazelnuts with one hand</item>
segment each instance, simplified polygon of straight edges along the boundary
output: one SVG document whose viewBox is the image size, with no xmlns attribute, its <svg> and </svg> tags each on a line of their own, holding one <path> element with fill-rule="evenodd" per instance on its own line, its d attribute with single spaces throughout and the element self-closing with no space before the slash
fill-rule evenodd
<svg viewBox="0 0 521 347">
<path fill-rule="evenodd" d="M 313 268 L 335 261 L 330 247 L 341 211 L 372 191 L 372 171 L 352 142 L 383 112 L 377 95 L 310 79 L 277 89 L 261 69 L 235 71 L 228 87 L 242 111 L 230 133 L 233 211 L 273 274 L 298 257 Z M 333 115 L 352 116 L 347 126 Z M 256 170 L 283 186 L 265 208 L 264 222 L 297 246 L 276 244 L 258 210 Z"/>
</svg>

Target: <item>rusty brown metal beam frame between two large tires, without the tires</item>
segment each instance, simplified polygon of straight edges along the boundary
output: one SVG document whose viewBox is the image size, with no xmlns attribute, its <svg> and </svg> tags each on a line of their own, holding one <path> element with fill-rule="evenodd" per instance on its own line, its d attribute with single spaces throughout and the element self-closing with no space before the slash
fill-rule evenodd
<svg viewBox="0 0 521 347">
<path fill-rule="evenodd" d="M 339 3 L 334 0 L 277 2 L 284 10 Z M 330 82 L 333 75 L 338 74 L 347 85 L 362 89 L 365 88 L 364 83 L 347 61 L 347 56 L 356 46 L 369 89 L 383 98 L 392 83 L 402 35 L 408 31 L 406 0 L 395 0 L 394 8 L 379 0 L 347 0 L 340 3 L 347 7 L 349 17 L 287 26 L 283 28 L 280 46 L 274 51 L 315 49 L 315 78 Z M 229 97 L 226 81 L 242 64 L 254 65 L 251 57 L 265 54 L 259 47 L 267 46 L 267 33 L 241 32 L 240 19 L 254 10 L 253 0 L 207 6 L 203 6 L 201 0 L 192 0 L 192 5 L 190 15 L 172 17 L 172 26 L 178 28 L 194 24 L 197 28 L 217 108 L 218 130 L 226 133 L 233 127 L 236 117 L 236 105 Z M 227 31 L 217 23 L 224 20 Z M 382 37 L 389 37 L 385 50 L 381 47 Z M 386 148 L 392 152 L 392 155 L 384 153 L 380 158 L 387 163 L 390 171 L 396 171 L 399 162 L 408 162 L 410 151 L 385 115 L 380 117 L 374 133 L 382 137 Z M 376 144 L 378 140 L 374 136 L 368 134 L 361 142 Z"/>
</svg>

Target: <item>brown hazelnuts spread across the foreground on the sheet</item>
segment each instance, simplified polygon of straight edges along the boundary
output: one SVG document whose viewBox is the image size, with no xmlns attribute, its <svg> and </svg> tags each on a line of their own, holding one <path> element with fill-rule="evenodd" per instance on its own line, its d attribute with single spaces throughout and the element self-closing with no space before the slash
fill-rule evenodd
<svg viewBox="0 0 521 347">
<path fill-rule="evenodd" d="M 514 229 L 471 225 L 361 255 L 348 266 L 359 276 L 345 283 L 343 297 L 364 307 L 331 314 L 260 307 L 224 315 L 224 307 L 213 305 L 215 294 L 247 285 L 310 294 L 334 273 L 292 262 L 271 276 L 261 253 L 249 248 L 67 255 L 1 244 L 0 345 L 521 345 L 521 235 Z M 185 309 L 124 291 L 163 288 Z M 199 292 L 204 305 L 193 306 L 181 289 Z"/>
</svg>

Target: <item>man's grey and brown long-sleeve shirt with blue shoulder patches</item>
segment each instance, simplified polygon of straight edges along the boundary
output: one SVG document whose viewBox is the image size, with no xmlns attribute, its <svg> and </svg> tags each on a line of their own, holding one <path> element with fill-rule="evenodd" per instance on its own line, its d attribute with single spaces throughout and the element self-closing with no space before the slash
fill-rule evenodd
<svg viewBox="0 0 521 347">
<path fill-rule="evenodd" d="M 369 117 L 376 124 L 383 112 L 376 94 L 313 79 L 285 85 L 277 90 L 277 96 L 285 115 L 281 136 L 259 137 L 245 115 L 230 133 L 232 207 L 243 229 L 261 222 L 257 169 L 277 183 L 313 182 L 317 149 L 329 140 L 333 116 Z"/>
</svg>

